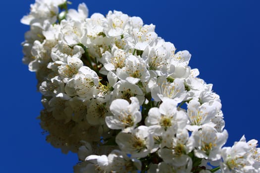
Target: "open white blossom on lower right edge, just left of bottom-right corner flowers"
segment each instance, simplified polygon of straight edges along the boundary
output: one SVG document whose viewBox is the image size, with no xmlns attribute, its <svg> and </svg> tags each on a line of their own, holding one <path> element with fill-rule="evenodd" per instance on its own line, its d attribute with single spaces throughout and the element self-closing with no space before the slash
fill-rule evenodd
<svg viewBox="0 0 260 173">
<path fill-rule="evenodd" d="M 225 144 L 227 136 L 226 130 L 220 133 L 212 127 L 202 126 L 201 130 L 192 133 L 195 142 L 195 156 L 212 161 L 219 160 L 221 158 L 221 147 Z"/>
</svg>

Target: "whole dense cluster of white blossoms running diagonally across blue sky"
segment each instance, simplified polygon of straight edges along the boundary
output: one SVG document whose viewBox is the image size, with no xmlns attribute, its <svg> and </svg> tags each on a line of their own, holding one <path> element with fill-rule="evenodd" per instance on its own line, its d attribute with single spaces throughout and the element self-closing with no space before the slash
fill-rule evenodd
<svg viewBox="0 0 260 173">
<path fill-rule="evenodd" d="M 41 127 L 76 173 L 259 173 L 257 140 L 228 134 L 219 96 L 191 54 L 140 17 L 36 0 L 21 19 L 23 62 L 42 93 Z M 209 164 L 210 163 L 210 164 Z M 218 167 L 217 167 L 218 166 Z"/>
</svg>

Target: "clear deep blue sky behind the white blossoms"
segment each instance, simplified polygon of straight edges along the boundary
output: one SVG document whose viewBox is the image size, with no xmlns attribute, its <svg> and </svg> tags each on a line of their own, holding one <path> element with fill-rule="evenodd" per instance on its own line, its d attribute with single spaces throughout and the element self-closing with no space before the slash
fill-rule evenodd
<svg viewBox="0 0 260 173">
<path fill-rule="evenodd" d="M 72 0 L 77 8 L 83 0 Z M 0 10 L 0 173 L 72 173 L 76 154 L 61 154 L 41 134 L 41 95 L 22 64 L 20 24 L 33 0 L 2 0 Z M 120 10 L 156 25 L 156 33 L 192 54 L 190 66 L 220 95 L 226 146 L 245 134 L 260 140 L 259 0 L 88 0 L 90 14 Z"/>
</svg>

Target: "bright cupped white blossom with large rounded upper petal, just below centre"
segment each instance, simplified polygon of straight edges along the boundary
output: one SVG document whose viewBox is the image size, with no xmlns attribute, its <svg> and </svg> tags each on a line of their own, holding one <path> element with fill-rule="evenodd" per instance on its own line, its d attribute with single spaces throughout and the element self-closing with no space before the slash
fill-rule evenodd
<svg viewBox="0 0 260 173">
<path fill-rule="evenodd" d="M 138 99 L 131 97 L 130 100 L 131 104 L 124 99 L 115 99 L 111 102 L 110 111 L 114 116 L 105 118 L 108 128 L 121 130 L 134 128 L 142 120 Z"/>
</svg>

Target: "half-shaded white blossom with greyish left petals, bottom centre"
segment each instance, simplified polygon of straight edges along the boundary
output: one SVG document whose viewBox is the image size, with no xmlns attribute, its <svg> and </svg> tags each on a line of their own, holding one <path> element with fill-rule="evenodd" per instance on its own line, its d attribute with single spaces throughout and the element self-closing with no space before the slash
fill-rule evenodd
<svg viewBox="0 0 260 173">
<path fill-rule="evenodd" d="M 146 157 L 154 145 L 148 129 L 146 126 L 139 126 L 131 133 L 119 132 L 115 142 L 124 153 L 131 154 L 131 158 Z"/>
</svg>

